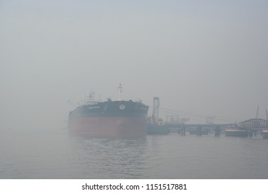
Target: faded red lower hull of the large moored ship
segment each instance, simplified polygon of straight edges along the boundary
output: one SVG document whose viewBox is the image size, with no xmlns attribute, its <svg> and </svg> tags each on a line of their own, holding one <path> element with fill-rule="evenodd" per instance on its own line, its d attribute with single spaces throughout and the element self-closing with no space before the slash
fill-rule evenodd
<svg viewBox="0 0 268 193">
<path fill-rule="evenodd" d="M 69 123 L 69 132 L 89 136 L 144 136 L 145 117 L 84 117 Z"/>
</svg>

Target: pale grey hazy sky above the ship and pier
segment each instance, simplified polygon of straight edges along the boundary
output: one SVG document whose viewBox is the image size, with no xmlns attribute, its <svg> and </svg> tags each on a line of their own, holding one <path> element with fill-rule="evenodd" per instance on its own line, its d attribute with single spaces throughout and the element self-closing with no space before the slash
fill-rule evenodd
<svg viewBox="0 0 268 193">
<path fill-rule="evenodd" d="M 0 129 L 65 128 L 89 90 L 191 122 L 265 119 L 268 1 L 0 0 Z M 160 112 L 164 116 L 164 112 Z M 194 115 L 194 116 L 192 116 Z M 163 117 L 164 118 L 164 117 Z"/>
</svg>

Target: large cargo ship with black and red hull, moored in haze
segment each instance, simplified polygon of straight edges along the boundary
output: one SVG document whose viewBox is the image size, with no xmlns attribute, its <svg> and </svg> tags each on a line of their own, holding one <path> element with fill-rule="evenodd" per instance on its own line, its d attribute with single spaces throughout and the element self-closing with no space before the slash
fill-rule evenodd
<svg viewBox="0 0 268 193">
<path fill-rule="evenodd" d="M 145 136 L 148 105 L 142 101 L 94 101 L 93 94 L 84 105 L 69 112 L 69 132 L 88 136 Z"/>
</svg>

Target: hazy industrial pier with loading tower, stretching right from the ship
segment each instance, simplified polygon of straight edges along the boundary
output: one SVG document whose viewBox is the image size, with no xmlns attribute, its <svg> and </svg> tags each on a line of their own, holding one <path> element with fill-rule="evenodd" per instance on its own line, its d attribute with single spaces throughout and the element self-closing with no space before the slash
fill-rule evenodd
<svg viewBox="0 0 268 193">
<path fill-rule="evenodd" d="M 248 119 L 240 123 L 214 123 L 215 116 L 206 117 L 206 124 L 188 124 L 189 118 L 179 118 L 179 113 L 175 110 L 168 110 L 161 108 L 165 112 L 171 114 L 166 115 L 166 121 L 159 118 L 159 97 L 153 98 L 153 114 L 149 118 L 147 126 L 147 134 L 168 134 L 170 132 L 177 132 L 181 136 L 185 136 L 186 132 L 189 134 L 214 134 L 214 136 L 256 136 L 257 133 L 263 135 L 264 139 L 268 139 L 268 112 L 266 111 L 267 119 L 258 119 L 258 110 L 256 119 Z"/>
</svg>

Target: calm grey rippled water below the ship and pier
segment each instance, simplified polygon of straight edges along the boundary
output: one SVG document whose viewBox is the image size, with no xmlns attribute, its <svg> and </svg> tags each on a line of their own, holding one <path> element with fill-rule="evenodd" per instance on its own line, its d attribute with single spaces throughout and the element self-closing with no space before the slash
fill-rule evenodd
<svg viewBox="0 0 268 193">
<path fill-rule="evenodd" d="M 268 179 L 268 140 L 0 134 L 0 179 Z"/>
</svg>

